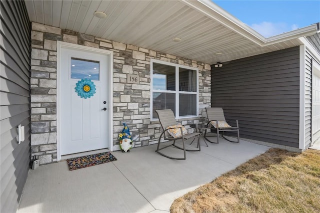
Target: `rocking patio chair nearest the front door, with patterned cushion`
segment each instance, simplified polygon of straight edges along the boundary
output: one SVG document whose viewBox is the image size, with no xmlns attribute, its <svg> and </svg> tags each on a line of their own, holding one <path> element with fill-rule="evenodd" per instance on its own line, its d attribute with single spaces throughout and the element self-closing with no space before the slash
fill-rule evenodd
<svg viewBox="0 0 320 213">
<path fill-rule="evenodd" d="M 183 126 L 177 124 L 175 117 L 174 117 L 174 114 L 171 109 L 155 110 L 155 112 L 159 118 L 159 122 L 162 127 L 162 133 L 159 137 L 158 146 L 157 146 L 155 152 L 159 153 L 160 155 L 162 155 L 166 158 L 176 159 L 176 160 L 185 160 L 186 159 L 185 151 L 200 151 L 199 133 L 193 132 L 193 133 L 188 134 Z M 162 136 L 164 136 L 164 140 L 168 140 L 168 141 L 173 140 L 173 144 L 159 148 Z M 182 147 L 175 145 L 175 141 L 179 140 L 179 139 L 182 140 Z M 193 139 L 193 140 L 196 139 L 197 140 L 197 147 L 196 148 L 198 148 L 198 149 L 194 149 L 194 150 L 185 149 L 184 140 L 189 140 L 189 139 Z M 176 147 L 180 150 L 183 150 L 184 157 L 183 158 L 175 158 L 175 157 L 171 157 L 171 156 L 165 155 L 162 152 L 160 152 L 160 150 L 165 149 L 170 146 L 173 146 L 173 147 Z"/>
</svg>

